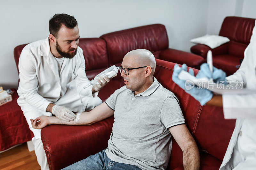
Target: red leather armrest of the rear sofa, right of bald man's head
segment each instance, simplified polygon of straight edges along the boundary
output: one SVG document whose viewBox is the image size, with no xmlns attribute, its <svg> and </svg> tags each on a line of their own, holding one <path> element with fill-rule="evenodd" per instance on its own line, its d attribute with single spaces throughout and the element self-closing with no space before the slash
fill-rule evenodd
<svg viewBox="0 0 256 170">
<path fill-rule="evenodd" d="M 205 59 L 199 55 L 171 48 L 163 50 L 159 54 L 159 59 L 178 64 L 186 63 L 187 66 L 196 69 L 199 69 L 200 65 L 205 62 Z"/>
</svg>

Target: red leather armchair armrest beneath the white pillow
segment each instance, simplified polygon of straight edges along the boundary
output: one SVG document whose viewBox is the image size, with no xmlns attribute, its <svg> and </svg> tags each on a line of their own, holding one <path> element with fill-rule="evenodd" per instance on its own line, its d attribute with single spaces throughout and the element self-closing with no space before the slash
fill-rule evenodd
<svg viewBox="0 0 256 170">
<path fill-rule="evenodd" d="M 190 48 L 190 51 L 196 55 L 200 55 L 206 59 L 207 52 L 211 50 L 212 55 L 223 55 L 223 54 L 228 54 L 228 43 L 225 43 L 219 47 L 216 48 L 210 48 L 206 45 L 203 44 L 198 44 L 194 45 Z"/>
</svg>

